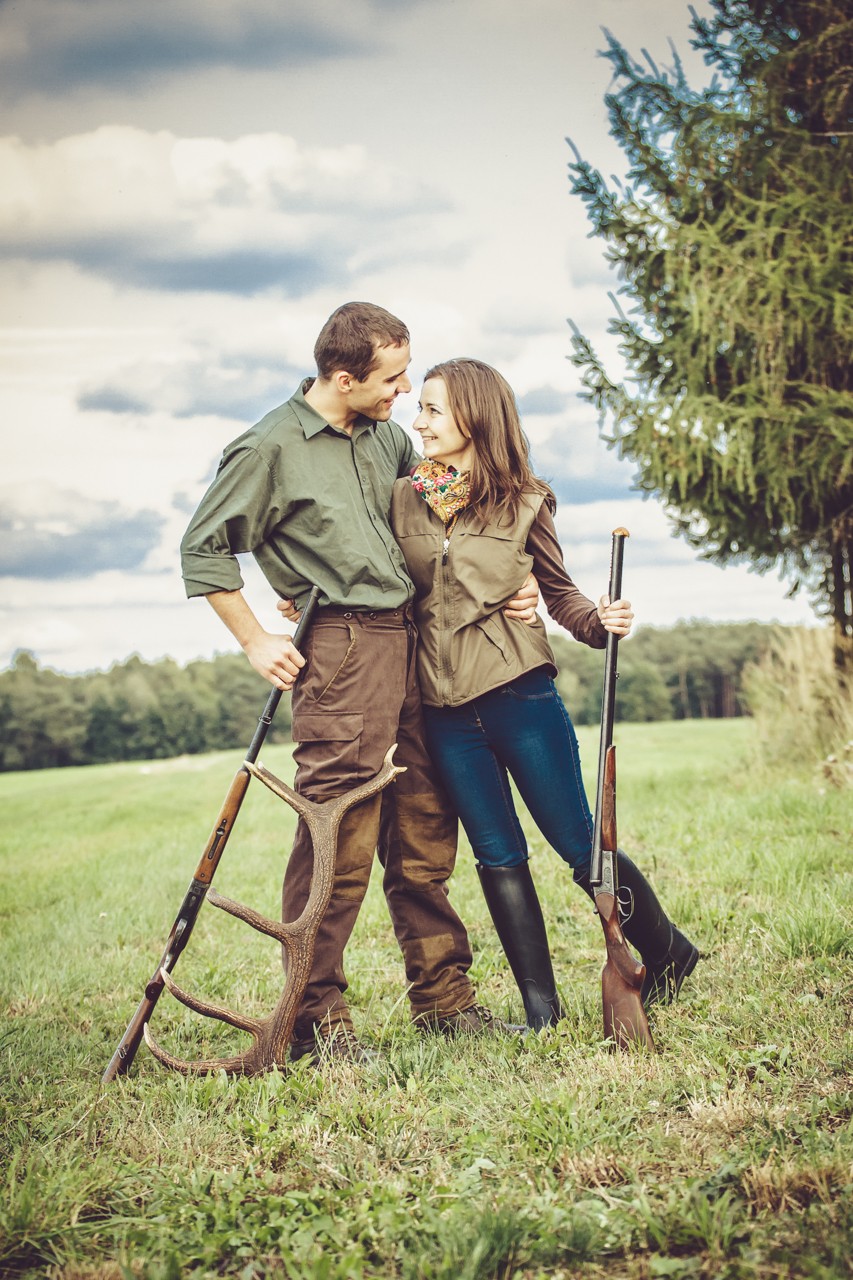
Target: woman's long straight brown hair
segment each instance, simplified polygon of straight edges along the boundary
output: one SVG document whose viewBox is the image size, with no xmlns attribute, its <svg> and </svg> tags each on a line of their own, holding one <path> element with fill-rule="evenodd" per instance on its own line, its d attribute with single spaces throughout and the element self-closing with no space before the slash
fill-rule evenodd
<svg viewBox="0 0 853 1280">
<path fill-rule="evenodd" d="M 530 445 L 521 430 L 515 394 L 506 378 L 482 360 L 446 360 L 424 375 L 441 378 L 457 425 L 474 445 L 471 507 L 484 520 L 515 521 L 521 494 L 543 494 L 551 511 L 551 488 L 530 470 Z"/>
</svg>

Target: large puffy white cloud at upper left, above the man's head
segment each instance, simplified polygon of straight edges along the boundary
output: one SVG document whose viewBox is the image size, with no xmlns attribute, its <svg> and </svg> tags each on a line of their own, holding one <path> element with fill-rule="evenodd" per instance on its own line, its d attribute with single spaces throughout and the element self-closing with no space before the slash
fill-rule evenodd
<svg viewBox="0 0 853 1280">
<path fill-rule="evenodd" d="M 3 138 L 0 177 L 1 253 L 119 285 L 304 297 L 411 243 L 426 259 L 464 252 L 444 198 L 359 145 L 102 125 L 46 145 Z"/>
</svg>

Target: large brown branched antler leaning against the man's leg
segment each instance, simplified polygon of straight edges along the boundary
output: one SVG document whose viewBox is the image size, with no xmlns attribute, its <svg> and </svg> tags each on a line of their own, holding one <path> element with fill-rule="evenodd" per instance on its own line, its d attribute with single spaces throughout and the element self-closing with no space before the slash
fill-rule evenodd
<svg viewBox="0 0 853 1280">
<path fill-rule="evenodd" d="M 206 1074 L 210 1071 L 227 1071 L 229 1075 L 259 1075 L 261 1071 L 269 1071 L 274 1066 L 282 1068 L 286 1065 L 293 1023 L 296 1021 L 296 1014 L 311 972 L 314 942 L 332 896 L 341 819 L 360 800 L 366 800 L 377 795 L 398 773 L 406 772 L 400 765 L 392 764 L 391 758 L 396 749 L 397 744 L 394 742 L 388 750 L 382 768 L 369 782 L 356 787 L 355 791 L 348 791 L 337 800 L 327 800 L 323 804 L 316 804 L 316 801 L 297 795 L 286 782 L 282 782 L 274 773 L 265 769 L 263 764 L 251 764 L 246 760 L 248 772 L 254 777 L 260 778 L 291 809 L 295 809 L 309 828 L 314 845 L 314 876 L 311 878 L 309 899 L 298 919 L 287 924 L 279 920 L 268 920 L 266 916 L 259 915 L 251 908 L 242 906 L 240 902 L 232 902 L 231 899 L 222 897 L 214 890 L 209 890 L 207 900 L 214 906 L 222 908 L 223 911 L 228 911 L 229 915 L 236 915 L 238 920 L 251 924 L 259 933 L 266 933 L 272 938 L 278 938 L 287 952 L 287 982 L 269 1018 L 247 1018 L 233 1012 L 231 1009 L 224 1009 L 222 1005 L 211 1005 L 205 1000 L 199 1000 L 197 996 L 191 996 L 174 982 L 165 969 L 161 969 L 160 973 L 165 986 L 182 1005 L 186 1005 L 187 1009 L 195 1009 L 197 1014 L 204 1014 L 205 1018 L 216 1018 L 220 1023 L 228 1023 L 242 1032 L 248 1032 L 254 1041 L 250 1048 L 243 1053 L 237 1053 L 234 1057 L 215 1057 L 200 1062 L 187 1062 L 160 1048 L 146 1023 L 145 1042 L 154 1056 L 165 1066 L 170 1066 L 175 1071 L 183 1071 L 184 1075 Z"/>
</svg>

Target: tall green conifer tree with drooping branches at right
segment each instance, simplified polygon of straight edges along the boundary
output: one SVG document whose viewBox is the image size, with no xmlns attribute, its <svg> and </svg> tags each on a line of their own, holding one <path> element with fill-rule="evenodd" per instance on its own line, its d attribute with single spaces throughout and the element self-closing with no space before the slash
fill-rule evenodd
<svg viewBox="0 0 853 1280">
<path fill-rule="evenodd" d="M 777 567 L 833 618 L 853 664 L 849 348 L 850 0 L 712 0 L 692 88 L 607 35 L 608 186 L 575 151 L 573 191 L 621 278 L 611 379 L 575 329 L 605 436 L 675 527 L 719 563 Z"/>
</svg>

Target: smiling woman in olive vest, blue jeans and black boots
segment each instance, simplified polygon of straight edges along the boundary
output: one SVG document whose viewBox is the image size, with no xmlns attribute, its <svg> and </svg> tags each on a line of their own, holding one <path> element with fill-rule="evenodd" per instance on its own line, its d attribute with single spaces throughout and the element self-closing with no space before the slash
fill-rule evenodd
<svg viewBox="0 0 853 1280">
<path fill-rule="evenodd" d="M 501 605 L 533 570 L 551 617 L 597 649 L 607 631 L 628 635 L 633 613 L 607 596 L 596 607 L 566 573 L 555 497 L 530 471 L 501 374 L 478 360 L 435 365 L 415 430 L 424 462 L 394 485 L 391 522 L 416 588 L 428 748 L 471 842 L 528 1025 L 542 1028 L 562 1014 L 510 776 L 590 897 L 593 822 L 544 625 L 507 620 Z M 617 876 L 622 932 L 646 965 L 642 998 L 674 1000 L 699 954 L 621 850 Z"/>
</svg>

